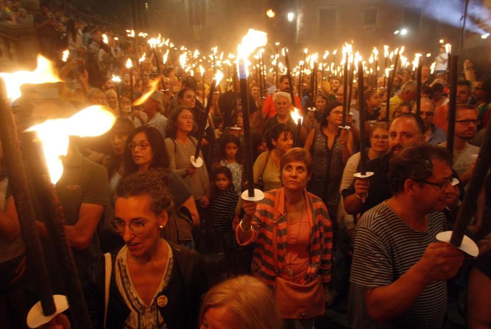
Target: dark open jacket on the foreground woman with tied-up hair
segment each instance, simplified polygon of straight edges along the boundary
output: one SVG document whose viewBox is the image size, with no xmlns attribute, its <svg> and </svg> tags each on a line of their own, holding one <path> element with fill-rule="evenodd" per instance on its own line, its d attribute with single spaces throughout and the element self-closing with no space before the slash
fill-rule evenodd
<svg viewBox="0 0 491 329">
<path fill-rule="evenodd" d="M 197 328 L 201 297 L 208 289 L 203 262 L 197 252 L 168 242 L 172 248 L 174 265 L 167 286 L 157 294 L 166 296 L 168 303 L 159 307 L 160 313 L 169 329 Z M 109 305 L 107 328 L 122 328 L 130 314 L 115 281 L 115 261 L 121 248 L 111 252 L 112 271 L 109 285 Z M 104 255 L 97 258 L 90 268 L 90 282 L 85 291 L 92 327 L 104 326 L 105 297 Z"/>
</svg>

